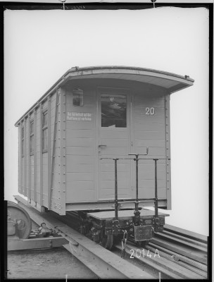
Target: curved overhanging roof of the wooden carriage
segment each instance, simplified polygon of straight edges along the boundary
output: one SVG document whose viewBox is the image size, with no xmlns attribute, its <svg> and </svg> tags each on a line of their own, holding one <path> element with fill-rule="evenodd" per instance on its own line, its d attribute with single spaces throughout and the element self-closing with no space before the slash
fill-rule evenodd
<svg viewBox="0 0 214 282">
<path fill-rule="evenodd" d="M 165 71 L 156 71 L 149 68 L 135 68 L 126 66 L 93 66 L 93 67 L 74 67 L 70 68 L 40 99 L 35 103 L 18 121 L 37 106 L 46 96 L 53 92 L 57 87 L 65 85 L 70 80 L 75 79 L 93 79 L 93 78 L 111 78 L 119 80 L 132 80 L 149 83 L 163 87 L 168 93 L 182 90 L 193 85 L 194 80 L 187 75 L 177 75 Z"/>
</svg>

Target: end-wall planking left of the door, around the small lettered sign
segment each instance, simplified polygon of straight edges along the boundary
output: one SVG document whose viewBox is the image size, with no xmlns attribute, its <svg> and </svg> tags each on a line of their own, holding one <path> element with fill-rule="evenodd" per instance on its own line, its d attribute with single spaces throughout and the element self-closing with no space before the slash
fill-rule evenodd
<svg viewBox="0 0 214 282">
<path fill-rule="evenodd" d="M 84 106 L 73 106 L 72 90 L 66 90 L 66 114 L 90 113 L 92 121 L 66 120 L 66 202 L 94 202 L 96 170 L 96 92 L 81 85 Z"/>
</svg>

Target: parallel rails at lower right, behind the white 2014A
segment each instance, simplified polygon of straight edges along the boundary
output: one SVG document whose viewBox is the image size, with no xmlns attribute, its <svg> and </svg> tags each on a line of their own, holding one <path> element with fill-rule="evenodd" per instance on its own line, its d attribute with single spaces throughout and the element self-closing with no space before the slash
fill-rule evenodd
<svg viewBox="0 0 214 282">
<path fill-rule="evenodd" d="M 122 245 L 115 245 L 122 251 Z M 175 279 L 208 278 L 206 236 L 165 225 L 144 248 L 126 245 L 126 257 L 146 264 Z"/>
</svg>

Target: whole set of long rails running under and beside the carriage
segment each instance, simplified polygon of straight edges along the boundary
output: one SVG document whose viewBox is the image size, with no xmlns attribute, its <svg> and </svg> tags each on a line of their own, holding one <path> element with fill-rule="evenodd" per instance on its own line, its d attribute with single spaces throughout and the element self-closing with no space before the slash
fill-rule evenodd
<svg viewBox="0 0 214 282">
<path fill-rule="evenodd" d="M 20 200 L 20 197 L 15 197 Z M 151 271 L 163 274 L 166 278 L 174 279 L 206 279 L 208 278 L 208 240 L 206 236 L 185 231 L 181 228 L 165 225 L 163 233 L 156 233 L 151 242 L 138 247 L 127 241 L 125 259 L 118 257 L 122 252 L 121 242 L 115 244 L 115 249 L 110 252 L 99 244 L 89 240 L 75 230 L 77 219 L 71 228 L 70 216 L 58 216 L 53 212 L 39 214 L 27 201 L 18 202 L 30 214 L 33 221 L 40 224 L 42 221 L 50 228 L 58 228 L 60 234 L 68 240 L 64 244 L 66 250 L 91 269 L 99 278 L 142 278 L 151 279 Z M 54 216 L 53 216 L 54 215 Z M 137 263 L 133 265 L 134 263 Z M 136 266 L 137 265 L 137 266 Z"/>
</svg>

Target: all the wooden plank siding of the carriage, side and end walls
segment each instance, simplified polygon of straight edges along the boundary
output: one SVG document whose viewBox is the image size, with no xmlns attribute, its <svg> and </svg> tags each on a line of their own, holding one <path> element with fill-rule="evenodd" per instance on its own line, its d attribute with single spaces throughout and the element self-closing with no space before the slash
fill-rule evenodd
<svg viewBox="0 0 214 282">
<path fill-rule="evenodd" d="M 83 106 L 73 105 L 75 88 L 84 92 Z M 100 88 L 125 91 L 127 128 L 100 130 L 98 97 Z M 117 94 L 115 92 L 115 94 Z M 122 94 L 122 92 L 121 92 Z M 153 158 L 170 157 L 169 95 L 163 88 L 122 80 L 73 80 L 49 94 L 19 124 L 19 192 L 58 214 L 65 204 L 99 202 L 114 198 L 114 164 L 102 156 L 128 157 L 144 154 L 149 147 Z M 155 113 L 146 115 L 147 108 Z M 42 152 L 42 116 L 48 111 L 48 150 Z M 72 113 L 91 114 L 91 120 L 71 120 Z M 30 119 L 34 119 L 34 154 L 30 155 Z M 25 146 L 22 154 L 22 127 Z M 99 131 L 100 130 L 100 131 Z M 167 141 L 166 141 L 167 140 Z M 99 143 L 101 141 L 101 143 Z M 98 145 L 106 145 L 102 154 Z M 119 198 L 135 195 L 135 163 L 118 161 Z M 154 197 L 154 162 L 139 161 L 139 198 Z M 170 162 L 158 161 L 158 198 L 170 207 Z"/>
</svg>

